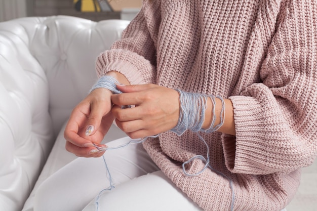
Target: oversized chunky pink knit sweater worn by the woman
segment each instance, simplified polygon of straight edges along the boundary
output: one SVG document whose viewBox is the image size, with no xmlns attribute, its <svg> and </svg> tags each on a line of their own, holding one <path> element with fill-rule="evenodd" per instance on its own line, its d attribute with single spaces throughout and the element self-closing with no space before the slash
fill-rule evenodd
<svg viewBox="0 0 317 211">
<path fill-rule="evenodd" d="M 317 153 L 317 2 L 312 0 L 144 1 L 121 40 L 97 59 L 99 75 L 220 95 L 234 107 L 236 136 L 201 134 L 211 165 L 232 179 L 234 210 L 281 210 L 300 168 Z M 230 210 L 226 178 L 181 164 L 206 155 L 196 134 L 166 132 L 144 147 L 205 210 Z M 187 169 L 204 166 L 195 160 Z M 159 200 L 159 199 L 153 199 Z"/>
</svg>

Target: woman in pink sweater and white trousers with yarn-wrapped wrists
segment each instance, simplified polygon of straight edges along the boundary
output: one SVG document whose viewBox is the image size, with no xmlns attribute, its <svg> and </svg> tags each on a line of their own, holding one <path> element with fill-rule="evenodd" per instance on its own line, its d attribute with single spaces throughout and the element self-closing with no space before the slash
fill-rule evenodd
<svg viewBox="0 0 317 211">
<path fill-rule="evenodd" d="M 64 134 L 69 152 L 100 157 L 115 119 L 130 138 L 149 137 L 144 148 L 106 151 L 110 181 L 102 159 L 78 158 L 38 201 L 64 193 L 46 191 L 63 180 L 68 195 L 86 194 L 64 210 L 90 200 L 85 210 L 282 210 L 317 153 L 316 53 L 315 1 L 145 0 L 97 59 L 105 88 L 122 94 L 99 81 Z"/>
</svg>

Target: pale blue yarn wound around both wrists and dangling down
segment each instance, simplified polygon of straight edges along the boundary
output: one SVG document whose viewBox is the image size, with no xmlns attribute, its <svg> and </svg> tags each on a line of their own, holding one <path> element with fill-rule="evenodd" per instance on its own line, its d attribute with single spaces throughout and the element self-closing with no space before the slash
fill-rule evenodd
<svg viewBox="0 0 317 211">
<path fill-rule="evenodd" d="M 118 83 L 118 81 L 112 77 L 112 76 L 102 76 L 100 77 L 100 79 L 97 81 L 97 83 L 93 86 L 93 88 L 90 90 L 90 92 L 92 92 L 93 90 L 97 89 L 97 88 L 105 88 L 110 90 L 113 94 L 121 94 L 122 92 L 116 89 L 116 84 Z M 209 146 L 206 143 L 206 141 L 204 140 L 204 138 L 199 134 L 199 132 L 204 132 L 204 133 L 213 133 L 215 131 L 217 131 L 224 123 L 224 118 L 225 118 L 225 104 L 224 104 L 224 100 L 222 97 L 220 96 L 213 96 L 213 95 L 204 95 L 204 94 L 197 94 L 197 93 L 188 93 L 188 92 L 183 92 L 181 90 L 176 90 L 179 93 L 179 100 L 180 100 L 180 113 L 179 113 L 179 119 L 178 119 L 178 123 L 175 126 L 175 128 L 173 128 L 171 131 L 176 133 L 178 136 L 183 135 L 183 133 L 187 130 L 191 130 L 192 132 L 194 132 L 195 134 L 197 134 L 197 136 L 200 138 L 200 140 L 206 145 L 207 147 L 207 156 L 206 158 L 203 155 L 195 155 L 192 158 L 190 158 L 189 160 L 185 161 L 182 164 L 182 168 L 183 168 L 183 172 L 185 175 L 187 176 L 197 176 L 202 174 L 206 168 L 210 168 L 213 172 L 223 176 L 224 178 L 226 178 L 229 181 L 230 184 L 230 188 L 231 188 L 231 192 L 232 192 L 232 196 L 231 196 L 231 207 L 230 210 L 233 210 L 233 204 L 234 204 L 234 190 L 233 190 L 233 184 L 232 184 L 232 180 L 230 178 L 228 178 L 226 175 L 222 174 L 221 172 L 215 170 L 211 164 L 210 164 L 210 156 L 209 156 Z M 213 108 L 212 108 L 212 113 L 215 113 L 215 104 L 216 104 L 216 100 L 215 98 L 218 98 L 221 100 L 221 104 L 222 104 L 222 108 L 220 111 L 220 123 L 217 125 L 215 124 L 215 120 L 216 120 L 216 115 L 213 115 L 213 119 L 211 122 L 211 125 L 208 129 L 202 129 L 202 125 L 204 123 L 205 120 L 205 112 L 207 109 L 207 100 L 208 98 L 211 99 Z M 123 106 L 122 108 L 129 108 L 130 106 Z M 156 138 L 159 135 L 156 136 L 149 136 L 151 138 Z M 112 150 L 112 149 L 119 149 L 119 148 L 123 148 L 129 144 L 139 144 L 144 142 L 147 138 L 149 137 L 145 137 L 143 139 L 138 139 L 138 140 L 131 140 L 126 144 L 120 145 L 120 146 L 116 146 L 116 147 L 99 147 L 96 146 L 95 147 L 100 150 L 100 151 L 105 151 L 105 150 Z M 104 163 L 105 163 L 105 167 L 106 167 L 106 172 L 107 172 L 107 177 L 109 179 L 110 182 L 110 186 L 107 189 L 104 189 L 102 191 L 100 191 L 99 195 L 96 197 L 96 205 L 97 205 L 97 209 L 98 210 L 98 199 L 99 196 L 106 190 L 111 190 L 112 188 L 114 188 L 114 184 L 112 181 L 112 177 L 107 165 L 107 162 L 105 160 L 105 157 L 103 157 Z M 186 169 L 185 169 L 185 165 L 190 163 L 191 161 L 193 161 L 194 159 L 201 159 L 204 163 L 205 166 L 203 167 L 203 169 L 195 174 L 189 174 L 187 173 Z"/>
</svg>

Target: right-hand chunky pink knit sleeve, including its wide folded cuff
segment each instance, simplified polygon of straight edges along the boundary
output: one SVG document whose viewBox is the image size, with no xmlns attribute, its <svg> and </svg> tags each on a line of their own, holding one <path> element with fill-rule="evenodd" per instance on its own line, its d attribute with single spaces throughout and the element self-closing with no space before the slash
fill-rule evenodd
<svg viewBox="0 0 317 211">
<path fill-rule="evenodd" d="M 312 163 L 317 153 L 316 54 L 316 2 L 288 1 L 261 67 L 263 82 L 230 97 L 235 150 L 232 142 L 224 142 L 224 153 L 231 172 L 287 173 Z"/>
</svg>

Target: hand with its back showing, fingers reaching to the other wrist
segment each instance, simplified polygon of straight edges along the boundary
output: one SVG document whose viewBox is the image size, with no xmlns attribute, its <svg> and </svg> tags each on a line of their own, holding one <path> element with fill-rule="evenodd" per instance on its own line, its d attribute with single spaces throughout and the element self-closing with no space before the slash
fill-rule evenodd
<svg viewBox="0 0 317 211">
<path fill-rule="evenodd" d="M 117 85 L 123 94 L 111 96 L 117 126 L 130 138 L 144 138 L 173 129 L 179 118 L 176 90 L 153 84 Z M 122 109 L 122 106 L 135 105 Z"/>
</svg>

